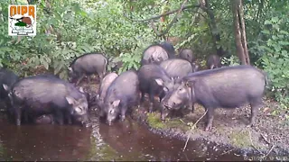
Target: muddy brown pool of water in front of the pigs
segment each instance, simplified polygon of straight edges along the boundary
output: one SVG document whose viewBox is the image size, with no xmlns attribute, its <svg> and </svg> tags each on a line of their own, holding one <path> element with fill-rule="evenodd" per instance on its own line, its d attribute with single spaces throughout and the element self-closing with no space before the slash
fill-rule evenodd
<svg viewBox="0 0 289 162">
<path fill-rule="evenodd" d="M 73 125 L 20 127 L 0 118 L 0 160 L 243 160 L 229 148 L 154 134 L 134 121 L 107 124 L 92 118 L 92 128 Z"/>
</svg>

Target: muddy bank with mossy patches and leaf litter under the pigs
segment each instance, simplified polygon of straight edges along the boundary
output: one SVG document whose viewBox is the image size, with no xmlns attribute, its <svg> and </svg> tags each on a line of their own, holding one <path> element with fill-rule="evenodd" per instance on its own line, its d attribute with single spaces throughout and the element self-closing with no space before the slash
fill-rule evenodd
<svg viewBox="0 0 289 162">
<path fill-rule="evenodd" d="M 90 94 L 95 96 L 98 92 L 99 80 L 94 79 L 87 84 L 81 82 Z M 146 98 L 147 100 L 147 98 Z M 156 100 L 157 101 L 157 100 Z M 93 107 L 93 106 L 92 106 Z M 262 108 L 256 118 L 254 127 L 247 127 L 250 116 L 250 106 L 237 109 L 217 109 L 214 115 L 213 128 L 204 131 L 204 108 L 195 105 L 195 111 L 190 111 L 183 118 L 170 118 L 164 123 L 160 121 L 160 112 L 147 112 L 147 102 L 140 108 L 135 108 L 132 118 L 148 126 L 154 133 L 161 133 L 179 139 L 205 139 L 219 145 L 228 145 L 246 151 L 256 152 L 260 155 L 289 155 L 289 113 L 284 111 L 278 103 L 264 98 Z M 278 113 L 277 113 L 278 112 Z M 192 125 L 200 121 L 195 127 Z"/>
</svg>

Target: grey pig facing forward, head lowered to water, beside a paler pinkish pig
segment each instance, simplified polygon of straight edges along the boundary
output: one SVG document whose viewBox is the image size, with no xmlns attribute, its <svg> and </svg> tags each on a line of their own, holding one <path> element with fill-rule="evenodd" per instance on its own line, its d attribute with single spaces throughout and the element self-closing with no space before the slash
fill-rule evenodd
<svg viewBox="0 0 289 162">
<path fill-rule="evenodd" d="M 101 117 L 107 114 L 107 122 L 111 125 L 112 121 L 121 115 L 121 120 L 126 119 L 126 111 L 133 105 L 139 103 L 139 81 L 134 70 L 121 73 L 109 85 L 107 95 L 104 98 L 104 106 L 101 109 Z"/>
</svg>

